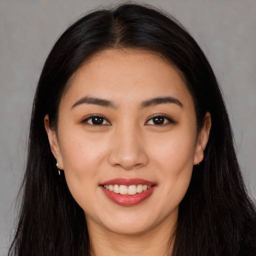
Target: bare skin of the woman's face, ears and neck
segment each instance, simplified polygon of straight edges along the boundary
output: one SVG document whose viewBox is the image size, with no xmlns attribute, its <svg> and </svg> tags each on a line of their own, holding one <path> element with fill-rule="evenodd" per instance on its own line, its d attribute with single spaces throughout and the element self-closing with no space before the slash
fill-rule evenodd
<svg viewBox="0 0 256 256">
<path fill-rule="evenodd" d="M 182 106 L 141 106 L 166 96 Z M 112 106 L 76 103 L 83 97 L 106 99 Z M 91 115 L 106 120 L 93 125 Z M 154 124 L 155 115 L 169 120 Z M 99 52 L 76 71 L 63 94 L 57 133 L 48 115 L 44 123 L 68 188 L 84 210 L 91 255 L 163 255 L 210 129 L 207 112 L 197 132 L 192 96 L 176 68 L 148 51 Z M 112 178 L 134 177 L 156 184 L 153 193 L 134 206 L 112 202 L 99 186 Z"/>
</svg>

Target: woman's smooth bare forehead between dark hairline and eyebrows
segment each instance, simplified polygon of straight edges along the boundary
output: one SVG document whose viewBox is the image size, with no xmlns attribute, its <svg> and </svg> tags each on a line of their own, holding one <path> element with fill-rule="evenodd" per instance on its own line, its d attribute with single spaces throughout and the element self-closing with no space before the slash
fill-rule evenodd
<svg viewBox="0 0 256 256">
<path fill-rule="evenodd" d="M 146 50 L 107 49 L 74 73 L 62 100 L 96 96 L 122 103 L 167 94 L 193 103 L 180 72 L 163 57 Z"/>
</svg>

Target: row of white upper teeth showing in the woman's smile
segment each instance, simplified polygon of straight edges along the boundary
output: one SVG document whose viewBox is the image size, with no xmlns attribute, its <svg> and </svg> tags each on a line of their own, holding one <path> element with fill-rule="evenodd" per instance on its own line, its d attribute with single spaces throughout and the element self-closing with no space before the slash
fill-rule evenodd
<svg viewBox="0 0 256 256">
<path fill-rule="evenodd" d="M 136 194 L 136 193 L 141 193 L 142 191 L 145 191 L 146 189 L 149 189 L 151 186 L 150 185 L 103 185 L 106 189 L 113 191 L 114 193 L 119 193 L 119 194 Z"/>
</svg>

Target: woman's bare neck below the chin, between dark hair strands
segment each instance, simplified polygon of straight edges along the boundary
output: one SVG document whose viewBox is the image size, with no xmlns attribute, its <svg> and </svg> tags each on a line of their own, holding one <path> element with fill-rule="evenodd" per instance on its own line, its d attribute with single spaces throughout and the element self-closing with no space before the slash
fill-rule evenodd
<svg viewBox="0 0 256 256">
<path fill-rule="evenodd" d="M 163 222 L 143 233 L 127 235 L 88 225 L 91 242 L 90 256 L 171 255 L 173 230 L 173 224 L 168 226 Z"/>
</svg>

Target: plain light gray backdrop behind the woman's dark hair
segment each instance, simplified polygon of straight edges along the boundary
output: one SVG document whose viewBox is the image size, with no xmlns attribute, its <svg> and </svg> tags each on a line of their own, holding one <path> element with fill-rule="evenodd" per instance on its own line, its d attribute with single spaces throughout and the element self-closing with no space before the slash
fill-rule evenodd
<svg viewBox="0 0 256 256">
<path fill-rule="evenodd" d="M 6 254 L 13 226 L 32 99 L 46 55 L 76 17 L 116 2 L 0 0 L 0 255 Z M 227 104 L 245 183 L 255 198 L 256 1 L 145 2 L 176 17 L 210 60 Z"/>
</svg>

